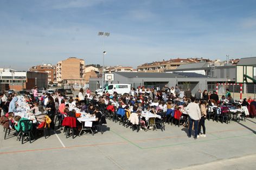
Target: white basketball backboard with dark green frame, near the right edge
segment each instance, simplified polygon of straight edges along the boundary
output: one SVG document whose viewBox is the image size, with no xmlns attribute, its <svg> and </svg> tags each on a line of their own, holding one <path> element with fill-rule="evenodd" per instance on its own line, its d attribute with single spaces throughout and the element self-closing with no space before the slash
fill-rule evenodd
<svg viewBox="0 0 256 170">
<path fill-rule="evenodd" d="M 244 75 L 253 78 L 252 65 L 236 65 L 236 83 L 253 83 L 253 80 L 244 77 Z"/>
</svg>

